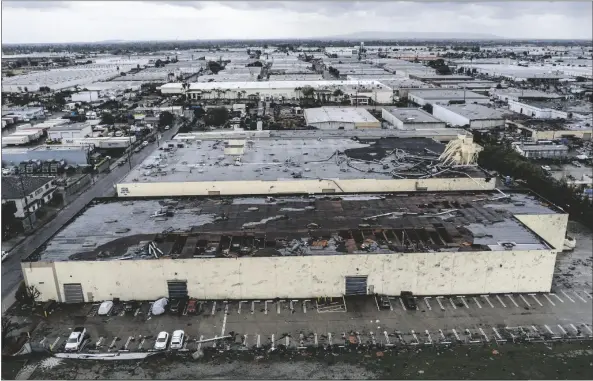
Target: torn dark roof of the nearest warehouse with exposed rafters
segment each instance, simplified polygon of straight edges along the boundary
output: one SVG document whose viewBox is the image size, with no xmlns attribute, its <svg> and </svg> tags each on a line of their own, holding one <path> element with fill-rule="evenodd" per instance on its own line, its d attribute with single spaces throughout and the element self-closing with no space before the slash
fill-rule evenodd
<svg viewBox="0 0 593 381">
<path fill-rule="evenodd" d="M 549 250 L 514 215 L 553 213 L 492 192 L 103 200 L 28 260 Z"/>
</svg>

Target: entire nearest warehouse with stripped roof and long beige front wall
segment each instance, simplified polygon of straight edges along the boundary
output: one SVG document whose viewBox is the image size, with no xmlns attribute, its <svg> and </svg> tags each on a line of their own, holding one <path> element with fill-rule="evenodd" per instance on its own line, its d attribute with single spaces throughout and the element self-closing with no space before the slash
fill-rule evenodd
<svg viewBox="0 0 593 381">
<path fill-rule="evenodd" d="M 21 265 L 66 303 L 548 292 L 567 220 L 499 192 L 96 200 Z"/>
</svg>

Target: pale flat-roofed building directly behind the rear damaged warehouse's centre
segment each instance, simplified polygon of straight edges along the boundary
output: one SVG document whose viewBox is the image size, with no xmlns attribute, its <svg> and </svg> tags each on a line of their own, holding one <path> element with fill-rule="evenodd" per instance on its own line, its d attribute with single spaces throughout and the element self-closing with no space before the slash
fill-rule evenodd
<svg viewBox="0 0 593 381">
<path fill-rule="evenodd" d="M 359 107 L 308 108 L 304 114 L 307 125 L 320 130 L 381 128 L 381 122 L 366 109 Z"/>
</svg>

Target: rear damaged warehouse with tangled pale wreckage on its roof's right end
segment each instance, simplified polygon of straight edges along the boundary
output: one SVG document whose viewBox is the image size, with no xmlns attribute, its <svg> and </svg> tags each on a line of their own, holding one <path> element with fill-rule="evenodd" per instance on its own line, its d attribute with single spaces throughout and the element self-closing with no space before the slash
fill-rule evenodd
<svg viewBox="0 0 593 381">
<path fill-rule="evenodd" d="M 269 131 L 185 134 L 117 184 L 119 197 L 492 190 L 474 165 L 471 136 L 447 146 L 412 131 Z M 345 135 L 346 133 L 352 135 Z M 363 133 L 364 132 L 364 133 Z M 365 134 L 367 133 L 368 134 Z M 247 137 L 251 135 L 252 137 Z M 388 137 L 391 136 L 391 137 Z M 449 147 L 449 153 L 445 153 Z M 447 159 L 449 158 L 449 159 Z M 473 163 L 473 162 L 472 162 Z"/>
</svg>

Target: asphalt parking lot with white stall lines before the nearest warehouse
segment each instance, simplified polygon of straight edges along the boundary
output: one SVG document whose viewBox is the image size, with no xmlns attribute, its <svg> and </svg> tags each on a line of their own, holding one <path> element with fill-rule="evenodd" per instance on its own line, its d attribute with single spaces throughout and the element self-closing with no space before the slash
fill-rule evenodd
<svg viewBox="0 0 593 381">
<path fill-rule="evenodd" d="M 554 293 L 313 300 L 198 301 L 196 313 L 150 314 L 151 302 L 128 312 L 115 305 L 61 305 L 32 333 L 33 344 L 63 351 L 74 327 L 90 335 L 83 352 L 151 351 L 159 332 L 185 331 L 181 352 L 206 348 L 303 349 L 350 345 L 415 346 L 591 339 L 593 296 L 586 290 Z"/>
</svg>

